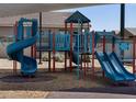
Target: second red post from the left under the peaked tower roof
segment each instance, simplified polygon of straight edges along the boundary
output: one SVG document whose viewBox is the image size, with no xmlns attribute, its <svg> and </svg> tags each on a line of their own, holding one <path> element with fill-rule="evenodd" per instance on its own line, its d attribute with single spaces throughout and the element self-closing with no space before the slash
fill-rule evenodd
<svg viewBox="0 0 136 102">
<path fill-rule="evenodd" d="M 72 33 L 73 33 L 73 27 L 72 27 L 72 23 L 70 23 L 70 60 L 69 60 L 70 72 L 72 71 Z"/>
</svg>

